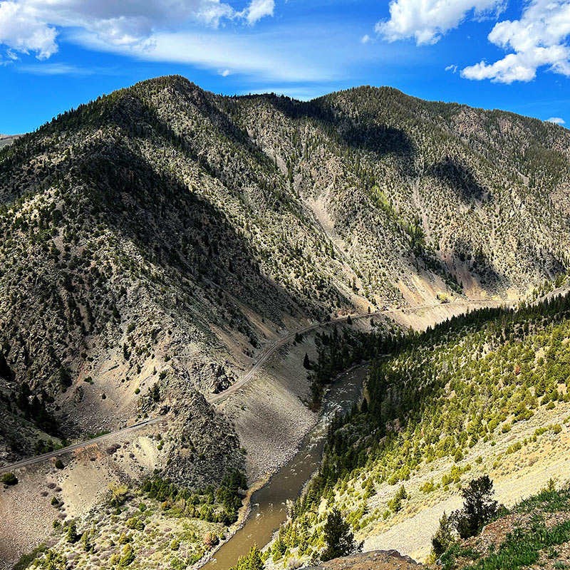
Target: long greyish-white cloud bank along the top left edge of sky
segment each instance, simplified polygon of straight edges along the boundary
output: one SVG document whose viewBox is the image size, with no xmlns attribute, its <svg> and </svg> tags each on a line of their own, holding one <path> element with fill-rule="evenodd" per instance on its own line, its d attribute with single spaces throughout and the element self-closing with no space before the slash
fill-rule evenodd
<svg viewBox="0 0 570 570">
<path fill-rule="evenodd" d="M 0 0 L 0 43 L 47 59 L 58 51 L 58 28 L 83 28 L 114 46 L 152 48 L 157 31 L 222 19 L 254 24 L 273 11 L 274 0 L 252 0 L 242 12 L 222 0 Z"/>
</svg>

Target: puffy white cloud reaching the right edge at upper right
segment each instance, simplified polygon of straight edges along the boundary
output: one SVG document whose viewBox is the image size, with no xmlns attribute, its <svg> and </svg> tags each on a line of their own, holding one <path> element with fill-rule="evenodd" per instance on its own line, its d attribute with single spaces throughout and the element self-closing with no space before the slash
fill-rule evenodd
<svg viewBox="0 0 570 570">
<path fill-rule="evenodd" d="M 570 0 L 532 0 L 519 20 L 495 24 L 489 41 L 509 50 L 494 63 L 480 61 L 466 67 L 468 79 L 490 79 L 498 83 L 532 81 L 537 69 L 570 76 Z"/>
</svg>

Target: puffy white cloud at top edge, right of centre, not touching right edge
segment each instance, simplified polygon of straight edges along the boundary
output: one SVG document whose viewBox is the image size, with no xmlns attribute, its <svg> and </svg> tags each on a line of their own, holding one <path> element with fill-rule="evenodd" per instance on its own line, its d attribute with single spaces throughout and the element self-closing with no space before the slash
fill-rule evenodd
<svg viewBox="0 0 570 570">
<path fill-rule="evenodd" d="M 468 14 L 480 17 L 502 7 L 503 0 L 392 0 L 390 18 L 379 21 L 375 31 L 388 41 L 415 38 L 418 46 L 436 43 Z"/>
</svg>

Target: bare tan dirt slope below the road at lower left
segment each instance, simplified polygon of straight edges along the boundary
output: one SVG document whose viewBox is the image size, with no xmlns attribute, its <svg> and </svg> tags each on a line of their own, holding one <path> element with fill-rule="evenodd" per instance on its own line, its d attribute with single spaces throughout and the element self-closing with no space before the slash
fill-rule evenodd
<svg viewBox="0 0 570 570">
<path fill-rule="evenodd" d="M 110 487 L 149 477 L 159 451 L 152 426 L 111 443 L 86 445 L 54 461 L 15 470 L 18 484 L 0 488 L 0 570 L 10 569 L 22 554 L 52 536 L 53 521 L 85 517 L 105 500 Z M 52 504 L 53 498 L 57 504 Z"/>
</svg>

